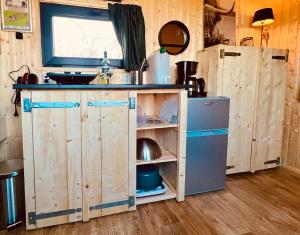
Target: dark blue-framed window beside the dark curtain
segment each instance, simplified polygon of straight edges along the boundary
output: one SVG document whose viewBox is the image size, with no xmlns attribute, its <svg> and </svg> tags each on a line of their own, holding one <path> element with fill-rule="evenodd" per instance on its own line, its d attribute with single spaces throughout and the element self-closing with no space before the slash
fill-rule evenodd
<svg viewBox="0 0 300 235">
<path fill-rule="evenodd" d="M 99 66 L 104 51 L 111 65 L 123 68 L 123 57 L 108 11 L 41 3 L 44 66 Z"/>
</svg>

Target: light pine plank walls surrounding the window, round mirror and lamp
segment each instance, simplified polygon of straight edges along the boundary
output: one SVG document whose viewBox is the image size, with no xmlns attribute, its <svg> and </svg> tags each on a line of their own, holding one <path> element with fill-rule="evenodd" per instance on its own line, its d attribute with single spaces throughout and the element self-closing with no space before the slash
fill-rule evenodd
<svg viewBox="0 0 300 235">
<path fill-rule="evenodd" d="M 0 161 L 22 156 L 21 123 L 13 117 L 10 103 L 13 90 L 7 76 L 11 70 L 28 64 L 41 75 L 49 68 L 42 68 L 40 48 L 39 1 L 33 2 L 33 33 L 24 34 L 24 40 L 16 40 L 12 32 L 0 30 L 0 115 L 6 115 L 8 138 L 0 143 Z M 106 8 L 102 0 L 47 0 L 78 6 Z M 125 0 L 124 3 L 141 5 L 146 23 L 147 54 L 158 49 L 157 35 L 163 24 L 170 20 L 183 21 L 191 32 L 191 44 L 179 56 L 172 56 L 171 62 L 193 60 L 196 51 L 202 49 L 203 0 Z M 300 169 L 300 1 L 299 0 L 237 0 L 237 43 L 247 36 L 253 36 L 259 46 L 260 29 L 251 27 L 252 17 L 257 9 L 272 7 L 275 23 L 270 28 L 269 47 L 290 49 L 289 79 L 287 82 L 286 115 L 283 156 L 285 165 Z M 50 69 L 55 70 L 55 69 Z M 122 74 L 122 72 L 120 72 Z"/>
</svg>

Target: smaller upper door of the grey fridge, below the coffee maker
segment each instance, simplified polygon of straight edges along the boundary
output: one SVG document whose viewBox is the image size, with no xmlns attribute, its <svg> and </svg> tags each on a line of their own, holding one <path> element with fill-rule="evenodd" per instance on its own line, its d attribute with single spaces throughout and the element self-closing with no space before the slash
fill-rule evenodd
<svg viewBox="0 0 300 235">
<path fill-rule="evenodd" d="M 210 130 L 228 128 L 228 98 L 188 99 L 187 130 Z"/>
</svg>

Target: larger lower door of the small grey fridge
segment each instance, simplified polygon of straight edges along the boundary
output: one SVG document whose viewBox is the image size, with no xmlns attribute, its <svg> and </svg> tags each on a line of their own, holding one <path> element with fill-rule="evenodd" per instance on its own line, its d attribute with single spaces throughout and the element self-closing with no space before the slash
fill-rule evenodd
<svg viewBox="0 0 300 235">
<path fill-rule="evenodd" d="M 225 187 L 226 132 L 187 134 L 185 194 L 197 194 Z"/>
</svg>

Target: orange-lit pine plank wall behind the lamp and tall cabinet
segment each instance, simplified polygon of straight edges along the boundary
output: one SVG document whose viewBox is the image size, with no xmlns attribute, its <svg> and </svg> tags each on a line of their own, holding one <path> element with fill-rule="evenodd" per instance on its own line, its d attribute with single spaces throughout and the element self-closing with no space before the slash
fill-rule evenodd
<svg viewBox="0 0 300 235">
<path fill-rule="evenodd" d="M 300 170 L 300 1 L 240 0 L 237 7 L 238 42 L 253 36 L 259 46 L 260 29 L 251 27 L 252 17 L 257 9 L 272 7 L 275 23 L 269 27 L 269 47 L 290 50 L 282 155 L 286 166 Z"/>
</svg>

